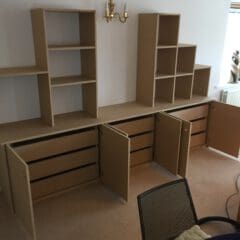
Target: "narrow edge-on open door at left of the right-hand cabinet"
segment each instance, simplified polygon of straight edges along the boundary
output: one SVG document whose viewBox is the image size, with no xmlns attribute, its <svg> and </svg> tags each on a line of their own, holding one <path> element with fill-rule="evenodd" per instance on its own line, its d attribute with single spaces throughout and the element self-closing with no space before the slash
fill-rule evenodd
<svg viewBox="0 0 240 240">
<path fill-rule="evenodd" d="M 182 120 L 181 149 L 178 163 L 178 174 L 182 177 L 187 176 L 191 132 L 192 123 L 189 121 Z"/>
</svg>

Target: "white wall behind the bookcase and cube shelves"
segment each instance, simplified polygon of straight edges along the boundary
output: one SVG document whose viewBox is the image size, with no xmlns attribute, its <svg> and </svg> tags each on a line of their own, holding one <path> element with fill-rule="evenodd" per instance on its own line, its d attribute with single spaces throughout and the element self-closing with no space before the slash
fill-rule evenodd
<svg viewBox="0 0 240 240">
<path fill-rule="evenodd" d="M 181 14 L 180 41 L 198 45 L 197 62 L 212 65 L 210 95 L 217 96 L 230 0 L 127 0 L 127 24 L 107 24 L 104 0 L 1 0 L 0 67 L 34 64 L 29 10 L 36 7 L 97 10 L 98 98 L 100 106 L 135 100 L 137 62 L 137 14 L 173 12 Z M 116 0 L 122 7 L 124 0 Z M 58 91 L 56 112 L 78 109 L 75 90 Z M 68 101 L 63 101 L 62 99 Z M 69 103 L 69 101 L 71 103 Z M 79 101 L 79 103 L 78 103 Z M 39 116 L 35 78 L 0 79 L 0 123 Z"/>
</svg>

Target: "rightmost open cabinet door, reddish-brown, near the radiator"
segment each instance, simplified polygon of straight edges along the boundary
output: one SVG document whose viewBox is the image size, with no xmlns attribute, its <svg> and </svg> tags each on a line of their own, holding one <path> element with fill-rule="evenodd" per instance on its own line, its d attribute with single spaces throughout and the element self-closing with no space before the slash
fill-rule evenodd
<svg viewBox="0 0 240 240">
<path fill-rule="evenodd" d="M 239 157 L 240 108 L 213 102 L 210 105 L 207 145 Z"/>
</svg>

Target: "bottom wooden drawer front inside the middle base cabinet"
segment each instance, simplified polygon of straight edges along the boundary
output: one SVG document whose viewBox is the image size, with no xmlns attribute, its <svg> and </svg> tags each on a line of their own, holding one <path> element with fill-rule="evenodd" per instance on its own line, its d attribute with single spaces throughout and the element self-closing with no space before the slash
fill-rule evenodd
<svg viewBox="0 0 240 240">
<path fill-rule="evenodd" d="M 130 156 L 131 167 L 134 167 L 145 162 L 150 162 L 153 160 L 152 158 L 153 158 L 152 147 L 139 150 L 137 152 L 133 152 L 131 153 Z"/>
</svg>

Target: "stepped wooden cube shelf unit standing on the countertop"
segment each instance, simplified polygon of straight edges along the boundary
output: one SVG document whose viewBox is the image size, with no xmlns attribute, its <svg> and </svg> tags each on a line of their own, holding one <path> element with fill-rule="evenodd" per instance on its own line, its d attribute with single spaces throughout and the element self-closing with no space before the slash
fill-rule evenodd
<svg viewBox="0 0 240 240">
<path fill-rule="evenodd" d="M 207 96 L 210 68 L 195 67 L 196 45 L 178 43 L 179 23 L 179 14 L 139 14 L 137 101 L 142 104 Z"/>
</svg>

